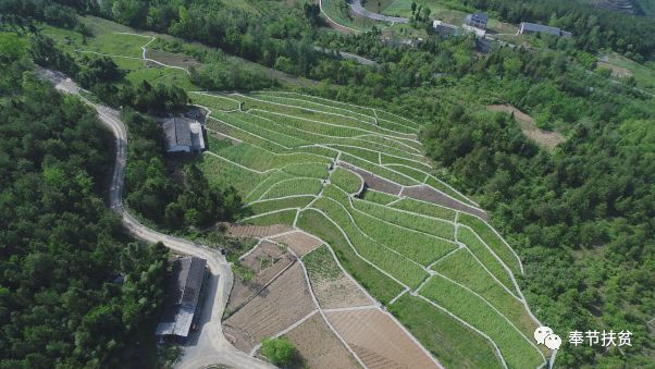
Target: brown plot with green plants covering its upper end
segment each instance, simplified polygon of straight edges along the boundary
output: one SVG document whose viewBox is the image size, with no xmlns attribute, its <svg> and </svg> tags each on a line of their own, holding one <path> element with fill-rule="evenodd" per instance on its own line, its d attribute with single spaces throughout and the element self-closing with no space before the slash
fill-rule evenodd
<svg viewBox="0 0 655 369">
<path fill-rule="evenodd" d="M 321 246 L 307 255 L 302 262 L 305 262 L 311 288 L 321 308 L 336 309 L 374 304 L 338 268 L 328 246 Z"/>
</svg>

